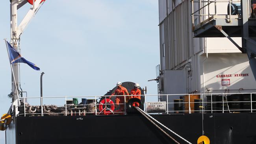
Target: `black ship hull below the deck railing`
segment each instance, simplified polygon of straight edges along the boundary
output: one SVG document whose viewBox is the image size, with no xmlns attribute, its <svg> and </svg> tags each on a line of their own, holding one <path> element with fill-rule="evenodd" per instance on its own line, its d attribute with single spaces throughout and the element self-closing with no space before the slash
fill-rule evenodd
<svg viewBox="0 0 256 144">
<path fill-rule="evenodd" d="M 196 144 L 202 135 L 202 114 L 152 115 Z M 204 135 L 211 144 L 255 144 L 256 113 L 204 114 Z M 183 140 L 169 133 L 181 144 Z M 141 115 L 18 116 L 6 131 L 6 144 L 174 144 Z"/>
</svg>

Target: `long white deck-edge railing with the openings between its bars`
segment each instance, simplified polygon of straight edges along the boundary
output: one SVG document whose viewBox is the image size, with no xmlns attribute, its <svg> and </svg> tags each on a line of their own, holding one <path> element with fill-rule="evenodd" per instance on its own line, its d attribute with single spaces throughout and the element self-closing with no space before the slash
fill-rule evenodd
<svg viewBox="0 0 256 144">
<path fill-rule="evenodd" d="M 165 113 L 155 112 L 158 114 L 170 113 L 253 113 L 256 112 L 256 93 L 210 93 L 210 94 L 156 94 L 140 95 L 145 112 L 147 111 L 147 102 L 166 102 L 167 109 Z M 122 97 L 122 96 L 121 96 Z M 124 100 L 129 96 L 123 96 Z M 68 104 L 71 98 L 87 98 L 93 100 L 93 103 L 86 104 Z M 57 115 L 104 115 L 105 110 L 108 114 L 126 114 L 126 102 L 119 103 L 123 108 L 120 109 L 115 103 L 115 96 L 112 96 L 113 103 L 107 103 L 106 98 L 109 96 L 53 96 L 53 97 L 27 97 L 17 98 L 13 102 L 13 113 L 15 116 L 57 116 Z M 174 102 L 179 98 L 180 102 Z M 54 99 L 61 99 L 54 101 Z M 97 100 L 105 99 L 105 103 L 98 103 Z M 144 99 L 144 100 L 143 100 Z M 50 104 L 49 104 L 50 100 Z M 195 102 L 195 101 L 198 102 Z M 20 103 L 21 102 L 21 103 Z M 39 103 L 39 105 L 22 102 Z M 44 102 L 44 103 L 43 103 Z M 59 104 L 63 102 L 62 104 Z M 55 104 L 53 104 L 55 103 Z M 56 104 L 57 103 L 57 104 Z M 103 109 L 99 110 L 99 106 Z M 175 105 L 179 105 L 178 107 Z M 111 111 L 111 107 L 115 109 Z M 105 110 L 104 110 L 105 109 Z"/>
</svg>

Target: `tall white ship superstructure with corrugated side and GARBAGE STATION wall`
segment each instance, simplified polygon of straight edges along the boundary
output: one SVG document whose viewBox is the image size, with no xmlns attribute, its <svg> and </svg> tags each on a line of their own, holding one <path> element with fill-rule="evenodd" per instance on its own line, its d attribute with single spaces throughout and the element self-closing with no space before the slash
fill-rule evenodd
<svg viewBox="0 0 256 144">
<path fill-rule="evenodd" d="M 227 6 L 219 3 L 217 13 Z M 190 0 L 159 0 L 160 94 L 256 92 L 247 54 L 227 38 L 193 38 L 200 20 L 191 11 Z M 240 37 L 232 39 L 241 46 Z"/>
</svg>

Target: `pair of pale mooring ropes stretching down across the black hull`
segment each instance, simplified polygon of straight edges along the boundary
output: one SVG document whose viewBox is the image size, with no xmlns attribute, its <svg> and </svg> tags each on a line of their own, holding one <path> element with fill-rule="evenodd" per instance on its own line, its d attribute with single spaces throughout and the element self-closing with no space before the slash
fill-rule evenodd
<svg viewBox="0 0 256 144">
<path fill-rule="evenodd" d="M 169 129 L 168 127 L 164 126 L 163 124 L 161 124 L 160 122 L 158 122 L 158 120 L 154 119 L 152 116 L 150 116 L 149 114 L 147 114 L 145 111 L 143 111 L 142 109 L 140 109 L 139 107 L 134 107 L 135 109 L 137 109 L 137 111 L 139 111 L 139 113 L 141 113 L 143 116 L 145 116 L 152 124 L 154 124 L 156 127 L 158 127 L 158 129 L 160 129 L 163 133 L 165 133 L 165 135 L 167 135 L 168 137 L 170 137 L 174 142 L 176 142 L 177 144 L 179 144 L 179 142 L 177 142 L 173 137 L 171 137 L 168 133 L 166 133 L 163 129 L 161 129 L 161 127 L 159 127 L 157 124 L 155 124 L 152 120 L 154 120 L 155 122 L 157 122 L 158 124 L 160 124 L 161 126 L 163 126 L 165 129 L 167 129 L 168 131 L 170 131 L 171 133 L 173 133 L 174 135 L 178 136 L 179 138 L 181 138 L 182 140 L 184 140 L 185 142 L 187 142 L 188 144 L 192 144 L 191 142 L 187 141 L 185 138 L 181 137 L 180 135 L 176 134 L 174 131 L 172 131 L 171 129 Z M 151 119 L 152 120 L 151 120 Z"/>
</svg>

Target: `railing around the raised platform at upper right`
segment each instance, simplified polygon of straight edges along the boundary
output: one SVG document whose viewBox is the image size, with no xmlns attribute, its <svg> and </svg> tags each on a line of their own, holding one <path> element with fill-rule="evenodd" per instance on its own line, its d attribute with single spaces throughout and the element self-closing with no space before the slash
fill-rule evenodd
<svg viewBox="0 0 256 144">
<path fill-rule="evenodd" d="M 203 22 L 203 20 L 206 20 L 206 18 L 208 18 L 208 21 L 210 21 L 210 17 L 213 16 L 213 15 L 227 15 L 227 16 L 229 16 L 228 19 L 229 19 L 229 22 L 231 23 L 232 22 L 231 4 L 233 2 L 240 2 L 241 3 L 241 0 L 191 0 L 190 2 L 191 2 L 191 10 L 192 10 L 192 12 L 191 12 L 192 25 L 195 26 L 194 16 L 199 17 L 198 24 L 200 24 L 200 25 Z M 198 9 L 196 9 L 194 11 L 195 3 L 198 3 L 199 7 L 198 7 Z M 211 14 L 210 13 L 210 10 L 211 10 L 210 5 L 213 4 L 213 3 L 214 3 L 214 14 Z M 226 3 L 226 4 L 228 4 L 227 6 L 229 6 L 229 14 L 227 12 L 226 13 L 218 13 L 217 12 L 217 3 Z M 250 2 L 249 2 L 249 4 L 250 4 Z M 206 11 L 206 8 L 208 9 L 208 11 Z M 202 14 L 203 12 L 205 12 L 205 14 Z M 198 14 L 196 14 L 196 13 L 198 13 Z"/>
</svg>

